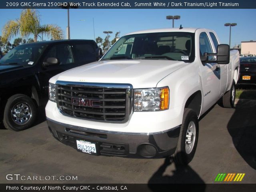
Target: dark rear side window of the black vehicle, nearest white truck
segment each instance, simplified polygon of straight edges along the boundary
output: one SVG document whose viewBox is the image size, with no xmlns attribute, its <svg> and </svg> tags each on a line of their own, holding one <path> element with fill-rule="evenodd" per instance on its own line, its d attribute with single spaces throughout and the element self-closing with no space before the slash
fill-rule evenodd
<svg viewBox="0 0 256 192">
<path fill-rule="evenodd" d="M 73 45 L 74 59 L 76 63 L 89 63 L 96 61 L 95 44 L 85 42 Z"/>
</svg>

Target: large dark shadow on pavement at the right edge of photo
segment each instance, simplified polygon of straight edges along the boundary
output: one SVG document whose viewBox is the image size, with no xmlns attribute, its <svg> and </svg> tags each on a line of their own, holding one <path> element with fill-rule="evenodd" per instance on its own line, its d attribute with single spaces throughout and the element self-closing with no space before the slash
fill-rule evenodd
<svg viewBox="0 0 256 192">
<path fill-rule="evenodd" d="M 243 94 L 243 93 L 242 93 Z M 228 122 L 228 132 L 236 150 L 256 170 L 256 101 L 239 100 Z"/>
</svg>

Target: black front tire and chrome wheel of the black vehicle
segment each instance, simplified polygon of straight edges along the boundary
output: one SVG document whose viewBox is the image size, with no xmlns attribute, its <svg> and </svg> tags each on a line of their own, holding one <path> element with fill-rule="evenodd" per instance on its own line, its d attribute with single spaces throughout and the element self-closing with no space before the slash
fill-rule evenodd
<svg viewBox="0 0 256 192">
<path fill-rule="evenodd" d="M 30 128 L 35 118 L 36 105 L 30 97 L 16 94 L 7 100 L 3 118 L 5 128 L 21 131 Z"/>
</svg>

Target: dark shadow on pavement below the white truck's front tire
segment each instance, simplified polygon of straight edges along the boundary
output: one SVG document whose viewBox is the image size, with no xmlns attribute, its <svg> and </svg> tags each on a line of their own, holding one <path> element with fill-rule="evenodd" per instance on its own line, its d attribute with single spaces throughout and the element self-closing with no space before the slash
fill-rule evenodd
<svg viewBox="0 0 256 192">
<path fill-rule="evenodd" d="M 148 184 L 178 184 L 178 183 L 200 183 L 203 184 L 200 188 L 197 188 L 198 192 L 205 191 L 205 184 L 202 178 L 189 166 L 179 166 L 175 164 L 175 170 L 172 173 L 168 173 L 169 175 L 164 174 L 166 169 L 171 164 L 175 164 L 172 157 L 166 158 L 164 160 L 164 164 L 158 168 L 158 170 L 152 175 Z M 149 188 L 152 191 L 158 191 L 159 188 L 154 188 L 154 186 L 149 185 Z"/>
</svg>

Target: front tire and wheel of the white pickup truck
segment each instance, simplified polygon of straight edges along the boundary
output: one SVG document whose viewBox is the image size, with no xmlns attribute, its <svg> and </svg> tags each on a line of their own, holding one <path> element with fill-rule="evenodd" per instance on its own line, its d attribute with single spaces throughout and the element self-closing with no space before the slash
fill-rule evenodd
<svg viewBox="0 0 256 192">
<path fill-rule="evenodd" d="M 185 108 L 180 136 L 173 159 L 176 165 L 187 165 L 192 161 L 198 142 L 198 117 L 192 109 Z"/>
</svg>

